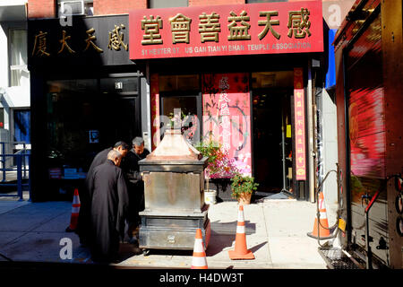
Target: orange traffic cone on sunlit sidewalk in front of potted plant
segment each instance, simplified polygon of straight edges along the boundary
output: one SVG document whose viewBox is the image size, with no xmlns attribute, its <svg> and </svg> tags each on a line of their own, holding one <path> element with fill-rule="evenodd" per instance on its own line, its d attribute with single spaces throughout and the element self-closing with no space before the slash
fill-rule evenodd
<svg viewBox="0 0 403 287">
<path fill-rule="evenodd" d="M 234 250 L 228 250 L 231 260 L 254 259 L 253 252 L 246 248 L 246 235 L 244 233 L 244 205 L 239 205 L 238 223 L 236 226 L 236 246 Z"/>
</svg>

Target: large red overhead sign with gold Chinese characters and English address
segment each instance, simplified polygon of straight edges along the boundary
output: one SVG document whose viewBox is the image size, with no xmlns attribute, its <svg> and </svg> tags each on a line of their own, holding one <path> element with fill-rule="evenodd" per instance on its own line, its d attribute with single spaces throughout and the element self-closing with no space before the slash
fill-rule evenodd
<svg viewBox="0 0 403 287">
<path fill-rule="evenodd" d="M 130 58 L 323 51 L 322 1 L 134 10 Z"/>
</svg>

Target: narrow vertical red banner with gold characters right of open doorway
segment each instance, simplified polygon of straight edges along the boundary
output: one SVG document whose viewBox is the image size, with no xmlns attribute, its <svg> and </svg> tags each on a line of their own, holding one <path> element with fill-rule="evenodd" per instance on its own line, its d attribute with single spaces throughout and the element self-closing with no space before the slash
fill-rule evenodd
<svg viewBox="0 0 403 287">
<path fill-rule="evenodd" d="M 302 68 L 294 68 L 294 115 L 296 180 L 306 180 L 304 74 Z"/>
</svg>

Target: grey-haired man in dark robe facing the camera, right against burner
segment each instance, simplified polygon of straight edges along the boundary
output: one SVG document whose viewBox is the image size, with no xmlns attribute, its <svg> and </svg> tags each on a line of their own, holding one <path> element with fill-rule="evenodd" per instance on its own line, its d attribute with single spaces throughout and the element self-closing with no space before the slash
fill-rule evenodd
<svg viewBox="0 0 403 287">
<path fill-rule="evenodd" d="M 140 172 L 139 161 L 145 159 L 150 152 L 144 148 L 144 140 L 137 136 L 133 139 L 133 148 L 127 152 L 122 163 L 122 170 L 128 179 L 129 191 L 129 218 L 127 235 L 132 243 L 135 243 L 136 229 L 141 223 L 139 212 L 144 210 L 144 182 Z"/>
</svg>

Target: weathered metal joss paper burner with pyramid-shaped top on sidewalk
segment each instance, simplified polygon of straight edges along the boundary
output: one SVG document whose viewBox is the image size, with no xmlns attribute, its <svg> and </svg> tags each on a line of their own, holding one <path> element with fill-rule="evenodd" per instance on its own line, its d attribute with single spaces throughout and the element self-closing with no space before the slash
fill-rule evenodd
<svg viewBox="0 0 403 287">
<path fill-rule="evenodd" d="M 189 249 L 201 229 L 210 240 L 208 205 L 204 204 L 204 169 L 207 157 L 181 135 L 167 130 L 159 146 L 139 161 L 144 180 L 144 205 L 140 213 L 139 247 Z"/>
</svg>

